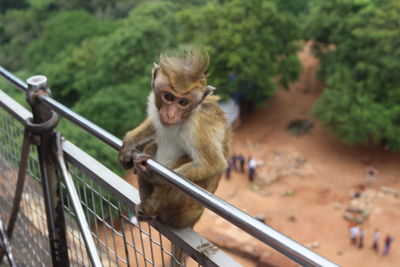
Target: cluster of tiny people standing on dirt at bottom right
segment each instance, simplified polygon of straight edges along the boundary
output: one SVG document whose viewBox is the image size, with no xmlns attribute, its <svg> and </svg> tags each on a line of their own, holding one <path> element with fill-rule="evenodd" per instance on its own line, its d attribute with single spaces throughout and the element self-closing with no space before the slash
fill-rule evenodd
<svg viewBox="0 0 400 267">
<path fill-rule="evenodd" d="M 351 244 L 358 246 L 358 248 L 364 247 L 364 237 L 365 237 L 365 230 L 354 223 L 350 225 L 350 242 Z M 372 239 L 372 246 L 371 249 L 379 252 L 379 240 L 380 240 L 380 232 L 378 229 L 375 229 Z M 386 235 L 385 239 L 383 240 L 383 251 L 382 256 L 385 256 L 389 253 L 390 245 L 392 244 L 393 238 L 388 234 Z"/>
</svg>

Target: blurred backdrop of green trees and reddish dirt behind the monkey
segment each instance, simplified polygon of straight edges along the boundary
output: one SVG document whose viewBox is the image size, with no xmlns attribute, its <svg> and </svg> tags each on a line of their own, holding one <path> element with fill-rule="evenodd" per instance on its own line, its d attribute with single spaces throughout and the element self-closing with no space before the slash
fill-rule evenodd
<svg viewBox="0 0 400 267">
<path fill-rule="evenodd" d="M 235 131 L 217 195 L 340 265 L 396 266 L 400 1 L 0 0 L 0 65 L 46 75 L 119 138 L 146 116 L 153 62 L 186 44 L 209 52 Z M 58 130 L 135 184 L 115 151 Z M 211 212 L 195 230 L 244 266 L 294 265 Z"/>
</svg>

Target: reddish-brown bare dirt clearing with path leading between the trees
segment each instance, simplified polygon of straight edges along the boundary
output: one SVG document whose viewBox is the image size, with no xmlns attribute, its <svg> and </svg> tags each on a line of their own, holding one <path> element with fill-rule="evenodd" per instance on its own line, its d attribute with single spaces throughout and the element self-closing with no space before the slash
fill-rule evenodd
<svg viewBox="0 0 400 267">
<path fill-rule="evenodd" d="M 222 179 L 216 195 L 250 215 L 265 215 L 268 225 L 303 245 L 317 241 L 319 247 L 315 251 L 341 266 L 400 266 L 400 199 L 379 192 L 381 186 L 400 190 L 400 153 L 346 146 L 323 127 L 310 114 L 322 88 L 315 79 L 318 62 L 311 56 L 309 46 L 300 57 L 305 69 L 300 81 L 290 91 L 279 90 L 266 108 L 256 109 L 234 137 L 234 152 L 264 163 L 257 169 L 258 181 L 268 178 L 271 172 L 281 177 L 256 187 L 249 186 L 244 174 L 233 172 L 229 181 Z M 288 123 L 298 118 L 315 122 L 310 135 L 299 137 L 287 132 Z M 305 163 L 292 172 L 285 171 L 285 161 L 296 157 L 305 159 Z M 378 175 L 366 188 L 376 194 L 372 212 L 362 224 L 365 246 L 359 249 L 350 244 L 343 214 L 351 192 L 365 183 L 369 166 L 374 166 Z M 288 189 L 294 194 L 284 196 Z M 295 221 L 289 217 L 295 217 Z M 386 257 L 371 250 L 375 228 L 381 233 L 381 249 L 386 234 L 394 238 Z M 232 238 L 245 250 L 264 253 L 262 257 L 277 266 L 296 266 L 210 211 L 206 211 L 195 230 L 215 243 Z M 256 260 L 234 257 L 244 266 L 257 265 Z"/>
</svg>

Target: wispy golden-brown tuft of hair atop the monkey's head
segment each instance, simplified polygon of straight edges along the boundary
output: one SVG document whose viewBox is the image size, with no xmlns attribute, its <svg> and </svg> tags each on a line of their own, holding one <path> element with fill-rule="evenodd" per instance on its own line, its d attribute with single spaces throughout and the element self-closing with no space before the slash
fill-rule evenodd
<svg viewBox="0 0 400 267">
<path fill-rule="evenodd" d="M 210 57 L 207 51 L 194 47 L 187 47 L 181 56 L 160 56 L 160 71 L 168 77 L 173 88 L 179 93 L 204 90 L 209 64 Z"/>
</svg>

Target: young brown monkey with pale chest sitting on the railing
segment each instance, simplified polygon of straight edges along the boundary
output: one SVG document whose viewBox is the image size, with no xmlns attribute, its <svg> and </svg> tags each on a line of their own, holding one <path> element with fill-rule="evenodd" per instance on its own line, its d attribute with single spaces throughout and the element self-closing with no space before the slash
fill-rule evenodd
<svg viewBox="0 0 400 267">
<path fill-rule="evenodd" d="M 231 130 L 207 85 L 207 52 L 190 48 L 183 56 L 161 55 L 152 71 L 148 117 L 124 137 L 119 160 L 138 175 L 139 219 L 193 227 L 204 207 L 146 167 L 152 158 L 185 179 L 215 192 L 227 168 Z M 133 152 L 143 148 L 143 153 Z"/>
</svg>

